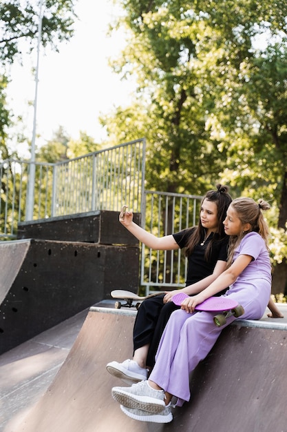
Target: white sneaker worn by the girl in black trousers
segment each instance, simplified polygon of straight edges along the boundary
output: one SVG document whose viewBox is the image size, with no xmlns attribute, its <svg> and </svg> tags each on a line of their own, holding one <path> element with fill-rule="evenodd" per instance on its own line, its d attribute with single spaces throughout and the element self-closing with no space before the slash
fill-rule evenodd
<svg viewBox="0 0 287 432">
<path fill-rule="evenodd" d="M 147 369 L 138 366 L 134 360 L 128 359 L 123 363 L 110 362 L 106 367 L 111 375 L 120 378 L 125 384 L 131 385 L 147 380 Z"/>
</svg>

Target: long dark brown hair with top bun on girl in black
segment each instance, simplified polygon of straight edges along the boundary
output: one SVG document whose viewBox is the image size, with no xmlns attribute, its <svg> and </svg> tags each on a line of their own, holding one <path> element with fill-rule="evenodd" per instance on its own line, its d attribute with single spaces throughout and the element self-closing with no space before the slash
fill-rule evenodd
<svg viewBox="0 0 287 432">
<path fill-rule="evenodd" d="M 214 241 L 218 242 L 224 239 L 224 237 L 226 237 L 223 221 L 226 217 L 227 208 L 232 202 L 232 198 L 231 195 L 229 195 L 228 190 L 229 190 L 228 186 L 217 184 L 216 190 L 209 190 L 204 196 L 204 198 L 202 199 L 202 202 L 200 204 L 200 208 L 201 208 L 204 199 L 208 199 L 209 201 L 215 202 L 215 204 L 217 205 L 218 233 L 217 235 L 213 235 L 213 239 L 211 239 L 211 242 L 209 242 L 209 245 L 206 248 L 204 254 L 204 257 L 206 259 L 209 257 L 209 252 L 211 250 L 213 242 Z M 198 226 L 195 228 L 193 234 L 189 238 L 189 243 L 187 244 L 187 249 L 186 249 L 186 255 L 191 255 L 191 253 L 193 253 L 195 246 L 200 242 L 200 239 L 204 237 L 204 234 L 205 234 L 205 230 L 200 220 Z"/>
</svg>

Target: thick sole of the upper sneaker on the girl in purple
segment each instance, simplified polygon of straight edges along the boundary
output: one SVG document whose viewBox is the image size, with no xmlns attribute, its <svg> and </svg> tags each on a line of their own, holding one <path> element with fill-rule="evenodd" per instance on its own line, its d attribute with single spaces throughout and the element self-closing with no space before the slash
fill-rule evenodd
<svg viewBox="0 0 287 432">
<path fill-rule="evenodd" d="M 114 397 L 114 400 L 123 406 L 127 406 L 127 408 L 137 408 L 149 413 L 160 413 L 165 408 L 163 400 L 149 396 L 133 395 L 120 388 L 116 390 L 112 389 L 111 395 Z"/>
</svg>

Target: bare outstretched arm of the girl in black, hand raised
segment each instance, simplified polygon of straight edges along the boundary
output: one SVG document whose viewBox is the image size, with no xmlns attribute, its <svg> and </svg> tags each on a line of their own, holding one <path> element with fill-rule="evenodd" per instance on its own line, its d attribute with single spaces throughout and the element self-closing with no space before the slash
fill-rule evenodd
<svg viewBox="0 0 287 432">
<path fill-rule="evenodd" d="M 173 235 L 164 235 L 164 237 L 156 237 L 151 233 L 138 226 L 133 221 L 133 213 L 127 211 L 127 206 L 123 206 L 118 218 L 120 223 L 129 230 L 140 242 L 145 244 L 148 248 L 155 249 L 156 251 L 171 251 L 172 249 L 179 249 Z"/>
</svg>

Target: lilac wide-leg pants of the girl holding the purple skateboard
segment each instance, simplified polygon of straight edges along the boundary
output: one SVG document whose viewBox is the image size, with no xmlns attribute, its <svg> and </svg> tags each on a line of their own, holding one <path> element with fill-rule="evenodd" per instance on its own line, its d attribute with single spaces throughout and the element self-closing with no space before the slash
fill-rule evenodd
<svg viewBox="0 0 287 432">
<path fill-rule="evenodd" d="M 270 282 L 262 279 L 259 284 L 256 282 L 245 282 L 244 288 L 234 291 L 231 288 L 226 293 L 244 307 L 241 319 L 259 320 L 264 314 L 270 298 Z M 162 334 L 149 380 L 178 397 L 178 406 L 190 398 L 189 374 L 211 351 L 223 328 L 235 320 L 229 317 L 224 326 L 217 327 L 213 316 L 211 312 L 189 314 L 180 309 L 171 314 Z"/>
</svg>

